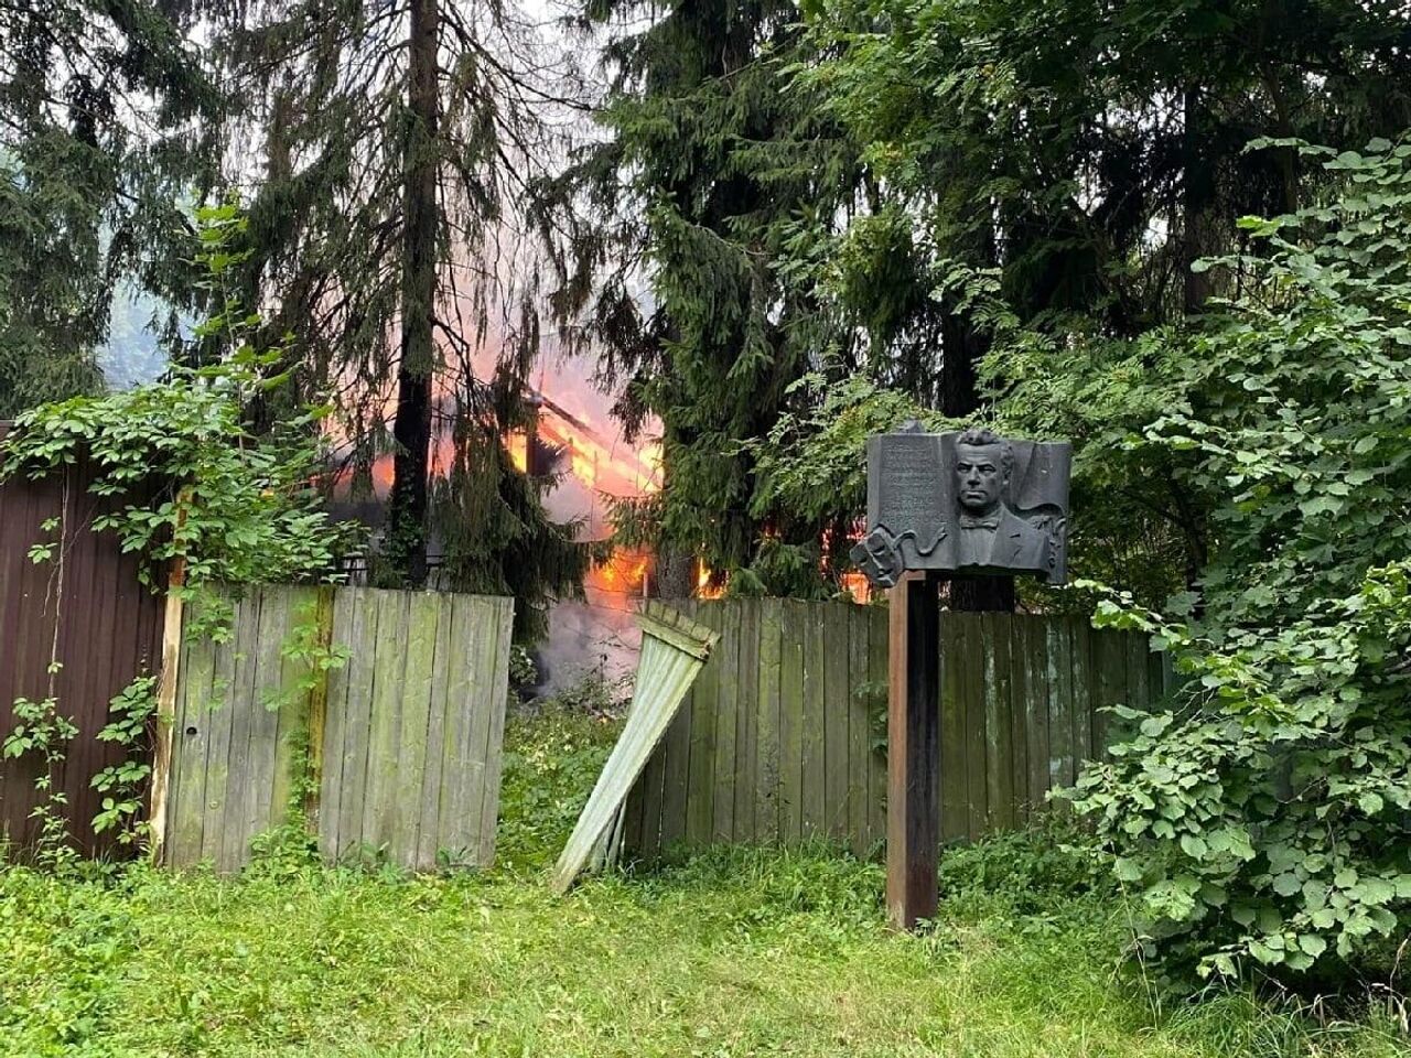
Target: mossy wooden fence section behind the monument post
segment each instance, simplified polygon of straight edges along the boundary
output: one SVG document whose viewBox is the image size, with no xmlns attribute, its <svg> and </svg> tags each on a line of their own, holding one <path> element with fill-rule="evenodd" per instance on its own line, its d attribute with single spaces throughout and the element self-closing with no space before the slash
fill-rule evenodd
<svg viewBox="0 0 1411 1058">
<path fill-rule="evenodd" d="M 885 839 L 886 611 L 794 600 L 680 608 L 721 640 L 628 798 L 624 855 L 814 835 L 865 852 Z M 1137 633 L 1084 618 L 943 614 L 943 841 L 1027 820 L 1102 755 L 1110 718 L 1099 710 L 1146 704 L 1164 679 Z"/>
</svg>

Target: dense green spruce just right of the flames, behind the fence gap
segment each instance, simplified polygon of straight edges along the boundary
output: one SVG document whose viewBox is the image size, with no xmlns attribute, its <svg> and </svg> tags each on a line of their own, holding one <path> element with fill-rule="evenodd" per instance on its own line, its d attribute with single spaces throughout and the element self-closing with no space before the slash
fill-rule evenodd
<svg viewBox="0 0 1411 1058">
<path fill-rule="evenodd" d="M 751 567 L 766 542 L 816 547 L 820 519 L 751 506 L 753 457 L 741 444 L 796 402 L 790 385 L 820 360 L 837 374 L 851 344 L 796 261 L 856 181 L 837 130 L 806 92 L 789 90 L 797 8 L 612 0 L 580 10 L 608 34 L 608 135 L 577 152 L 539 210 L 564 244 L 560 319 L 600 354 L 604 379 L 625 385 L 629 437 L 662 425 L 660 502 L 619 513 L 646 515 L 632 536 L 721 576 Z M 755 576 L 776 592 L 820 587 L 817 563 L 761 564 Z"/>
</svg>

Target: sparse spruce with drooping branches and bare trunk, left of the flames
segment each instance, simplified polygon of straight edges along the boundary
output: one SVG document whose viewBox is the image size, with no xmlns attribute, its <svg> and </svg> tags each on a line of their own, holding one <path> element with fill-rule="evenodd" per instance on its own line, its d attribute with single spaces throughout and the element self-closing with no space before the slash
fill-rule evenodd
<svg viewBox="0 0 1411 1058">
<path fill-rule="evenodd" d="M 425 583 L 435 532 L 452 584 L 514 588 L 532 632 L 588 561 L 504 451 L 538 353 L 515 209 L 553 151 L 535 27 L 467 0 L 295 0 L 220 48 L 264 165 L 250 293 L 295 336 L 305 388 L 332 387 L 356 477 L 394 453 L 380 580 Z"/>
</svg>

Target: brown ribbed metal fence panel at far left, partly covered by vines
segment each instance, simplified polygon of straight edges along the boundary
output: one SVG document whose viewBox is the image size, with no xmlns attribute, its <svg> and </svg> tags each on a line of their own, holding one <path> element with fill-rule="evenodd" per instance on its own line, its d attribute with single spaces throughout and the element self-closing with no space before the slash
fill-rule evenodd
<svg viewBox="0 0 1411 1058">
<path fill-rule="evenodd" d="M 7 429 L 0 423 L 0 437 Z M 96 735 L 113 695 L 159 664 L 162 602 L 140 583 L 140 559 L 123 554 L 113 533 L 92 530 L 119 502 L 89 492 L 92 480 L 79 463 L 42 481 L 0 484 L 0 739 L 14 728 L 16 698 L 58 700 L 79 731 L 56 776 L 69 831 L 85 852 L 104 855 L 113 846 L 110 835 L 93 834 L 102 796 L 90 780 L 126 749 Z M 58 536 L 41 528 L 51 518 L 61 521 L 62 563 L 58 550 L 34 563 L 31 546 Z M 0 844 L 11 849 L 37 835 L 38 769 L 30 758 L 0 760 Z"/>
</svg>

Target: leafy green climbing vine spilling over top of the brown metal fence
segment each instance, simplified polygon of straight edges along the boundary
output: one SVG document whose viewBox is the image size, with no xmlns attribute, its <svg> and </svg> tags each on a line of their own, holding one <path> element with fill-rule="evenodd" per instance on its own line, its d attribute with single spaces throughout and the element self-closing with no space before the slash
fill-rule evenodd
<svg viewBox="0 0 1411 1058">
<path fill-rule="evenodd" d="M 0 443 L 0 477 L 40 478 L 86 456 L 96 468 L 90 491 L 116 501 L 93 529 L 117 532 L 124 550 L 154 564 L 183 559 L 193 587 L 327 571 L 339 537 L 313 488 L 322 412 L 292 416 L 265 436 L 250 432 L 246 408 L 284 381 L 268 371 L 281 350 L 254 348 L 258 317 L 229 289 L 247 253 L 237 245 L 246 230 L 238 207 L 203 209 L 199 219 L 198 261 L 220 305 L 200 333 L 217 343 L 219 363 L 25 412 Z"/>
</svg>

